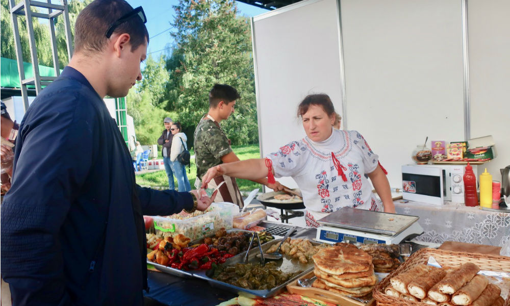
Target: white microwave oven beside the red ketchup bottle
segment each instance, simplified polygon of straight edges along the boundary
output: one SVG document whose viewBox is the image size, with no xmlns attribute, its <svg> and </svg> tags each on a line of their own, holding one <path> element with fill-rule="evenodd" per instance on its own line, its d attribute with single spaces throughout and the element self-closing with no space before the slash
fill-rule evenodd
<svg viewBox="0 0 510 306">
<path fill-rule="evenodd" d="M 464 203 L 466 165 L 403 165 L 402 198 L 443 205 L 444 201 Z M 478 183 L 476 166 L 473 172 Z"/>
</svg>

